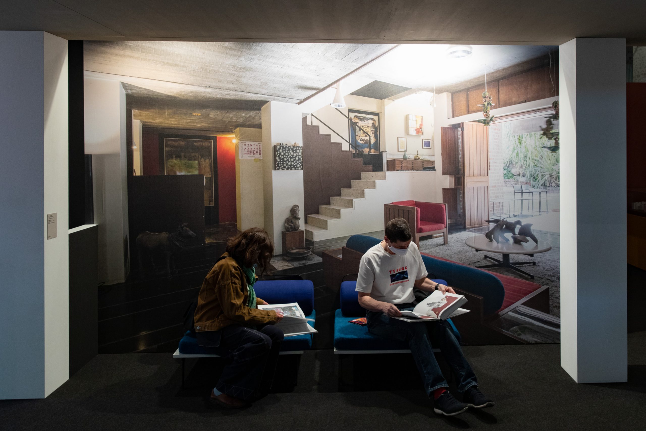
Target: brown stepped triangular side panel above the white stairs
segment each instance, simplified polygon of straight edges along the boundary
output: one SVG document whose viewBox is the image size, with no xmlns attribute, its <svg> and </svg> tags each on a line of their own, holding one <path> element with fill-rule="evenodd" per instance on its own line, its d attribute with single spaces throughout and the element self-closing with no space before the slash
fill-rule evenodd
<svg viewBox="0 0 646 431">
<path fill-rule="evenodd" d="M 330 196 L 340 196 L 351 180 L 360 180 L 362 172 L 370 171 L 372 167 L 364 166 L 361 158 L 353 158 L 340 143 L 331 142 L 329 134 L 320 134 L 318 126 L 303 119 L 305 215 L 318 214 L 318 205 L 329 205 Z"/>
</svg>

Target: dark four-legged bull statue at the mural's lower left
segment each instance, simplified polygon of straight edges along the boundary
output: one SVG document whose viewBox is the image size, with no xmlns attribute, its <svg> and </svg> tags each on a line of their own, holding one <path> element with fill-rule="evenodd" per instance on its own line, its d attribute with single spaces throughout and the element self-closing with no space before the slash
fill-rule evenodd
<svg viewBox="0 0 646 431">
<path fill-rule="evenodd" d="M 145 257 L 150 259 L 153 270 L 155 268 L 154 257 L 160 256 L 164 259 L 163 263 L 166 266 L 167 273 L 171 275 L 176 272 L 174 253 L 182 249 L 190 238 L 195 237 L 195 233 L 186 225 L 187 223 L 178 226 L 173 233 L 145 231 L 137 235 L 136 244 L 142 276 L 144 275 L 143 260 Z"/>
</svg>

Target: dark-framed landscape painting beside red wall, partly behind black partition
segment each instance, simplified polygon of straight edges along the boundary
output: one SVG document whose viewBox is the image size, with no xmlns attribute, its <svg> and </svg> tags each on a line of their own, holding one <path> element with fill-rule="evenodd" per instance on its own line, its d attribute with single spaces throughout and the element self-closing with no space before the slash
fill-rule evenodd
<svg viewBox="0 0 646 431">
<path fill-rule="evenodd" d="M 214 205 L 213 140 L 163 138 L 165 175 L 203 175 L 204 206 Z"/>
</svg>

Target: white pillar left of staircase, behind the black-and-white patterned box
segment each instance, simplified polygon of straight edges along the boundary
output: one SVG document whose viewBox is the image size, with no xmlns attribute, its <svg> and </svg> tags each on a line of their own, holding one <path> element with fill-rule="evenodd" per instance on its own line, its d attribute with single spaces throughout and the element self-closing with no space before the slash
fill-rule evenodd
<svg viewBox="0 0 646 431">
<path fill-rule="evenodd" d="M 301 109 L 293 103 L 270 101 L 262 107 L 262 165 L 265 201 L 265 230 L 282 251 L 285 219 L 292 205 L 300 206 L 300 228 L 305 229 L 303 171 L 274 171 L 273 146 L 282 142 L 303 144 Z"/>
</svg>

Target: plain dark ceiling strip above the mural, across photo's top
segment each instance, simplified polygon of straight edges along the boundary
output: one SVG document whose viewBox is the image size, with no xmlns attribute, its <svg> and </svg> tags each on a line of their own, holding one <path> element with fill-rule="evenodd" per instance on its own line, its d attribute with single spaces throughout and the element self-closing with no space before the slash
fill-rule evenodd
<svg viewBox="0 0 646 431">
<path fill-rule="evenodd" d="M 67 39 L 646 45 L 643 0 L 3 0 L 1 30 Z"/>
</svg>

